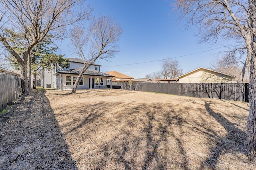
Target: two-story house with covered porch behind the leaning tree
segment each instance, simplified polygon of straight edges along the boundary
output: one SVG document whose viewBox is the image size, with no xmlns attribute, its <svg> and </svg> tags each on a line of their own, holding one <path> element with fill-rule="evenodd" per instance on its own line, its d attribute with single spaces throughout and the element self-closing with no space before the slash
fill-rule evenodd
<svg viewBox="0 0 256 170">
<path fill-rule="evenodd" d="M 60 90 L 71 90 L 74 87 L 76 79 L 84 66 L 84 61 L 78 58 L 66 59 L 70 61 L 68 68 L 56 66 L 50 72 L 44 71 L 43 87 Z M 105 88 L 107 79 L 112 79 L 113 76 L 100 72 L 100 66 L 99 64 L 91 64 L 80 78 L 77 89 Z"/>
</svg>

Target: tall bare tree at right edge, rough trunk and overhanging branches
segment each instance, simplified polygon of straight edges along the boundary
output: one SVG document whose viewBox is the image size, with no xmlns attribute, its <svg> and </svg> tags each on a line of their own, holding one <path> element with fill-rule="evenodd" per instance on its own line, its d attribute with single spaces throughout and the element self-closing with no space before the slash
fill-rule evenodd
<svg viewBox="0 0 256 170">
<path fill-rule="evenodd" d="M 227 60 L 238 61 L 246 53 L 242 74 L 250 70 L 248 156 L 256 164 L 256 0 L 176 0 L 176 9 L 188 25 L 198 26 L 202 42 L 231 42 Z M 239 55 L 240 54 L 240 55 Z"/>
</svg>

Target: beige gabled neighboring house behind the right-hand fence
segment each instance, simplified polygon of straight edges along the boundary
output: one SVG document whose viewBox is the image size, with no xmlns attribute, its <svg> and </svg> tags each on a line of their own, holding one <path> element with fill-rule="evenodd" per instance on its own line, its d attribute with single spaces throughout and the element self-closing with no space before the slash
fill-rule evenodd
<svg viewBox="0 0 256 170">
<path fill-rule="evenodd" d="M 180 83 L 234 83 L 236 76 L 200 67 L 177 78 Z"/>
</svg>

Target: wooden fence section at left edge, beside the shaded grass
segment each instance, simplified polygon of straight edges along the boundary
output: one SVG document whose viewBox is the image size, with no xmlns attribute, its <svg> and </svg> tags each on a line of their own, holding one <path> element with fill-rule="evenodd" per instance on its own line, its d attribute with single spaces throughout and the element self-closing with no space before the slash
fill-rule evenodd
<svg viewBox="0 0 256 170">
<path fill-rule="evenodd" d="M 20 77 L 0 73 L 0 112 L 21 95 Z"/>
</svg>

